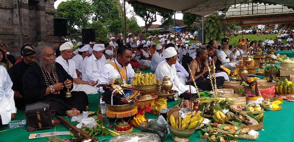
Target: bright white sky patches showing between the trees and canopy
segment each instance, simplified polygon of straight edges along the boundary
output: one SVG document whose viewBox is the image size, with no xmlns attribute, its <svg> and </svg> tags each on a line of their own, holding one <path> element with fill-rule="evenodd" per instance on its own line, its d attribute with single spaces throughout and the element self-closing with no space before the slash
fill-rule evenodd
<svg viewBox="0 0 294 142">
<path fill-rule="evenodd" d="M 55 9 L 57 9 L 57 6 L 61 3 L 61 1 L 67 1 L 67 0 L 57 0 L 57 1 L 55 1 L 55 3 L 54 3 L 54 8 Z M 131 5 L 129 5 L 128 2 L 126 2 L 126 16 L 128 18 L 130 18 L 130 17 L 132 17 L 134 15 L 134 12 L 132 12 L 132 11 L 133 11 L 133 7 Z M 136 15 L 135 15 L 135 17 L 137 18 L 139 26 L 145 26 L 145 22 L 142 20 L 142 18 L 140 18 L 139 16 L 136 16 Z M 153 24 L 161 25 L 160 20 L 161 20 L 162 17 L 159 16 L 159 15 L 156 15 L 156 18 L 157 18 L 157 21 L 153 22 Z M 183 19 L 183 14 L 182 13 L 176 13 L 176 19 Z"/>
</svg>

